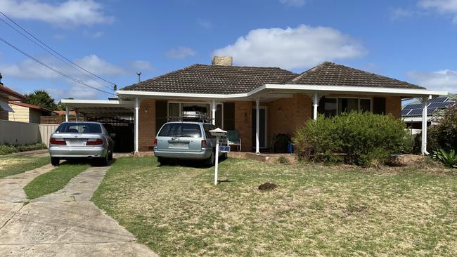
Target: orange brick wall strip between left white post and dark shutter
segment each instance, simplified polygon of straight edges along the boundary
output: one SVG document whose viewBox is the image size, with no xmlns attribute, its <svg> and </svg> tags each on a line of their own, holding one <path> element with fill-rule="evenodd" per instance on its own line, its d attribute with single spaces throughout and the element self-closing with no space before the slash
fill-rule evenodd
<svg viewBox="0 0 457 257">
<path fill-rule="evenodd" d="M 145 110 L 148 112 L 145 112 Z M 143 99 L 139 110 L 139 151 L 152 151 L 155 138 L 155 100 Z"/>
</svg>

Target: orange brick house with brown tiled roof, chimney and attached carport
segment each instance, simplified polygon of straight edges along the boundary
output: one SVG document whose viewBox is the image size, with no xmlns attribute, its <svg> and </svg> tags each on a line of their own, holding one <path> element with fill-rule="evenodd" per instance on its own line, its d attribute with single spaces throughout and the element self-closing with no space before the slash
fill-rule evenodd
<svg viewBox="0 0 457 257">
<path fill-rule="evenodd" d="M 295 74 L 278 67 L 233 66 L 231 57 L 216 56 L 212 65 L 191 65 L 124 87 L 116 94 L 118 99 L 63 99 L 60 103 L 86 117 L 125 116 L 133 110 L 135 152 L 152 150 L 160 126 L 188 110 L 207 113 L 224 130 L 237 130 L 243 151 L 260 152 L 269 147 L 274 135 L 292 135 L 318 113 L 356 110 L 400 119 L 403 98 L 420 98 L 426 114 L 428 100 L 447 92 L 429 91 L 333 62 Z M 426 138 L 423 144 L 426 153 Z"/>
</svg>

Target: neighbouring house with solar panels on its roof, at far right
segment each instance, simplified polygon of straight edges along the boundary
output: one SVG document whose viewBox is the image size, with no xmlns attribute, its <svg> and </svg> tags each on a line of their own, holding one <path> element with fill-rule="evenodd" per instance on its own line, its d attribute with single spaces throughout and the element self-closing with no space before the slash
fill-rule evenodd
<svg viewBox="0 0 457 257">
<path fill-rule="evenodd" d="M 428 101 L 427 126 L 439 123 L 439 115 L 449 106 L 456 105 L 456 101 L 449 96 L 442 95 Z M 409 103 L 401 109 L 401 117 L 414 134 L 420 133 L 422 127 L 422 103 Z"/>
</svg>

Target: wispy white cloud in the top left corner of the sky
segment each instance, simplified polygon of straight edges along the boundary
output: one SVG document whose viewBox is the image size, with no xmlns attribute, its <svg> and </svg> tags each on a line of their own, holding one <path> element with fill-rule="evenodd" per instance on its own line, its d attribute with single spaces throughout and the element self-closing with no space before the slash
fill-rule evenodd
<svg viewBox="0 0 457 257">
<path fill-rule="evenodd" d="M 57 27 L 90 26 L 114 20 L 93 0 L 67 0 L 55 4 L 41 0 L 1 0 L 0 10 L 11 18 L 39 20 Z"/>
</svg>

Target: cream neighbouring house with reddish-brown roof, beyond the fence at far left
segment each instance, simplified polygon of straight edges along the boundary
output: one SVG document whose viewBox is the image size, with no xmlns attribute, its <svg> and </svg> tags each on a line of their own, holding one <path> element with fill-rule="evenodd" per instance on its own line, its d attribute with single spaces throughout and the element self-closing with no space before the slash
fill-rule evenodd
<svg viewBox="0 0 457 257">
<path fill-rule="evenodd" d="M 9 106 L 13 112 L 9 113 L 10 121 L 21 121 L 29 123 L 40 123 L 41 116 L 50 116 L 52 111 L 30 103 L 20 103 L 9 101 Z"/>
</svg>

